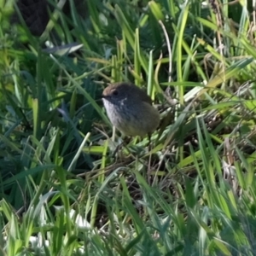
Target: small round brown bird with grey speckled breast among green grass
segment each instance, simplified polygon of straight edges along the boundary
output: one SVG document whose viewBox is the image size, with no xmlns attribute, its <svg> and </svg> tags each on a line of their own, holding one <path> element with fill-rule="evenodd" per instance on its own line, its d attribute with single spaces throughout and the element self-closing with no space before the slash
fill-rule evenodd
<svg viewBox="0 0 256 256">
<path fill-rule="evenodd" d="M 110 84 L 102 99 L 111 123 L 125 135 L 144 137 L 160 123 L 150 97 L 134 84 Z"/>
</svg>

